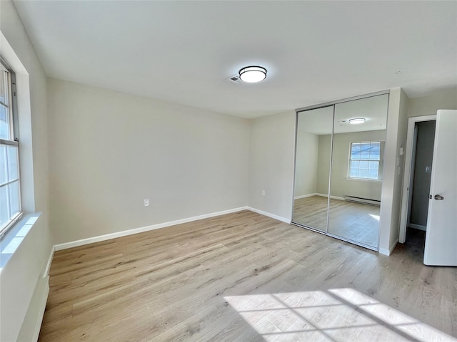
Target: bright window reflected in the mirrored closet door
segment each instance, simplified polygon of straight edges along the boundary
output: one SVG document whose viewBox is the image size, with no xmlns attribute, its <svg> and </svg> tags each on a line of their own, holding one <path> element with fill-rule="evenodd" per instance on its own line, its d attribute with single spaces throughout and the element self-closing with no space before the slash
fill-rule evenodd
<svg viewBox="0 0 457 342">
<path fill-rule="evenodd" d="M 348 177 L 381 180 L 381 141 L 351 142 Z"/>
</svg>

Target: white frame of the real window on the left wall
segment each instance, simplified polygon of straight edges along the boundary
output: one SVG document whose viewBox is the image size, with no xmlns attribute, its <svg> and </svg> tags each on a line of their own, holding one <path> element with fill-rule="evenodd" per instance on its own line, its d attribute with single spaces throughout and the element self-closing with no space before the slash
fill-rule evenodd
<svg viewBox="0 0 457 342">
<path fill-rule="evenodd" d="M 6 71 L 7 73 L 7 92 L 8 92 L 8 103 L 1 102 L 6 108 L 8 108 L 9 115 L 9 139 L 0 138 L 0 145 L 9 145 L 16 146 L 18 150 L 17 155 L 17 179 L 9 180 L 0 185 L 1 187 L 7 187 L 12 182 L 19 182 L 19 212 L 16 212 L 13 216 L 9 217 L 6 224 L 0 226 L 0 238 L 9 230 L 14 224 L 19 221 L 22 217 L 22 203 L 21 203 L 21 167 L 19 162 L 19 134 L 18 134 L 18 117 L 16 113 L 17 100 L 16 100 L 16 75 L 14 71 L 9 68 L 8 64 L 4 62 L 3 58 L 0 56 L 0 71 Z M 7 195 L 6 200 L 8 201 L 8 207 L 11 205 L 11 197 Z M 4 198 L 1 198 L 3 201 Z"/>
</svg>

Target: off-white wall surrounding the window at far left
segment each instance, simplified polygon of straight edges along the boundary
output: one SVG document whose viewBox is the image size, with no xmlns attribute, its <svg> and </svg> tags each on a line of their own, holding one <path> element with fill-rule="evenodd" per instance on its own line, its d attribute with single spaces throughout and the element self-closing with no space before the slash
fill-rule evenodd
<svg viewBox="0 0 457 342">
<path fill-rule="evenodd" d="M 40 301 L 32 296 L 53 245 L 48 224 L 46 75 L 11 1 L 0 1 L 0 31 L 6 38 L 1 54 L 18 76 L 24 210 L 43 212 L 0 273 L 0 341 L 16 341 L 20 332 L 34 332 L 34 315 L 31 322 L 24 317 L 38 309 L 31 303 Z"/>
</svg>

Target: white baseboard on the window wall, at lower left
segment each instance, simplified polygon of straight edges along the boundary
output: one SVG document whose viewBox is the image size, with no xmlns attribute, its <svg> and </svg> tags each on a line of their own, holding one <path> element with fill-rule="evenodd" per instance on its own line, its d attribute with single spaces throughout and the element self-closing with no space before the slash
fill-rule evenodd
<svg viewBox="0 0 457 342">
<path fill-rule="evenodd" d="M 45 276 L 36 283 L 35 291 L 31 298 L 29 309 L 27 309 L 26 316 L 24 317 L 24 321 L 22 322 L 17 341 L 38 341 L 48 294 L 49 276 Z"/>
</svg>

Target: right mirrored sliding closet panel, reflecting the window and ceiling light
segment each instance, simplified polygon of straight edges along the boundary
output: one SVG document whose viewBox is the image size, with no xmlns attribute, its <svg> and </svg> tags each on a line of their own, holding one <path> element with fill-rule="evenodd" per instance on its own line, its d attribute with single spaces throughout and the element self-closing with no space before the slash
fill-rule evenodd
<svg viewBox="0 0 457 342">
<path fill-rule="evenodd" d="M 333 127 L 328 233 L 375 249 L 387 110 L 387 94 L 338 103 Z"/>
</svg>

